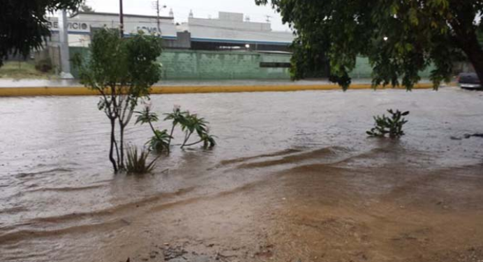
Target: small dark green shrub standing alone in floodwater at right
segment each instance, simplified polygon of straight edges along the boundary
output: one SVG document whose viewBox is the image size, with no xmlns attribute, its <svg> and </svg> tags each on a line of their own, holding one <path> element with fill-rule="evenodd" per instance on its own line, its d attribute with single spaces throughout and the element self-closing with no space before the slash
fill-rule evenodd
<svg viewBox="0 0 483 262">
<path fill-rule="evenodd" d="M 403 125 L 408 123 L 408 121 L 403 116 L 407 116 L 409 111 L 401 112 L 396 110 L 394 112 L 392 109 L 387 111 L 391 114 L 390 118 L 384 114 L 382 116 L 374 116 L 374 121 L 376 121 L 374 128 L 366 132 L 369 136 L 385 137 L 386 134 L 389 134 L 390 138 L 399 138 L 404 135 Z"/>
</svg>

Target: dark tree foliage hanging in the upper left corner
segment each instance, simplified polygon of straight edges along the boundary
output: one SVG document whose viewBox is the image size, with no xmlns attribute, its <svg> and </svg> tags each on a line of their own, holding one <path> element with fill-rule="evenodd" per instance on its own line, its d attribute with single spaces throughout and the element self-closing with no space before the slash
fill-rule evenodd
<svg viewBox="0 0 483 262">
<path fill-rule="evenodd" d="M 50 36 L 47 12 L 76 10 L 82 0 L 1 0 L 0 66 L 9 54 L 27 56 Z"/>
</svg>

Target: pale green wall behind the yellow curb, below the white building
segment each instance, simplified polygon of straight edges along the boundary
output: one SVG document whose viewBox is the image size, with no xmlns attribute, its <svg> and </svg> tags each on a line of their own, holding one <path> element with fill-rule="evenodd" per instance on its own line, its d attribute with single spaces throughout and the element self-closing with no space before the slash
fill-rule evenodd
<svg viewBox="0 0 483 262">
<path fill-rule="evenodd" d="M 89 49 L 70 47 L 70 55 L 80 52 L 87 56 Z M 186 49 L 165 49 L 158 61 L 163 64 L 163 79 L 289 79 L 288 68 L 261 68 L 260 62 L 290 63 L 290 54 L 258 52 L 216 52 Z M 432 68 L 421 72 L 429 77 Z M 75 70 L 73 75 L 77 76 Z M 371 78 L 369 60 L 357 58 L 357 66 L 351 72 L 354 79 Z"/>
</svg>

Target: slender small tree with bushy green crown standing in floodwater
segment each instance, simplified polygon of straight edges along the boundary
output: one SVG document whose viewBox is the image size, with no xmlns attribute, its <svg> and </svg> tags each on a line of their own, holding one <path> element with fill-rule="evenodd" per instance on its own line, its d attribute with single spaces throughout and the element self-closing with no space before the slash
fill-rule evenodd
<svg viewBox="0 0 483 262">
<path fill-rule="evenodd" d="M 117 29 L 94 33 L 89 57 L 73 59 L 80 82 L 98 91 L 98 109 L 110 121 L 109 160 L 114 172 L 125 169 L 124 130 L 140 98 L 149 99 L 151 86 L 161 79 L 161 38 L 139 34 L 121 38 Z M 118 128 L 118 130 L 116 130 Z"/>
</svg>

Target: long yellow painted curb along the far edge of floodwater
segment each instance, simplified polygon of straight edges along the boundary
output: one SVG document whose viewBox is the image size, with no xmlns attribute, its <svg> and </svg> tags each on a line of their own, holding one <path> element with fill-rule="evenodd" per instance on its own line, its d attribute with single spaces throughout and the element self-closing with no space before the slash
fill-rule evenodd
<svg viewBox="0 0 483 262">
<path fill-rule="evenodd" d="M 371 84 L 352 84 L 350 89 L 369 89 Z M 378 86 L 378 89 L 391 88 Z M 417 84 L 415 89 L 433 88 L 433 84 Z M 401 88 L 402 89 L 402 88 Z M 251 85 L 251 86 L 153 86 L 151 93 L 236 93 L 236 92 L 277 92 L 277 91 L 306 91 L 306 90 L 341 90 L 336 84 L 317 85 Z M 0 88 L 0 97 L 7 96 L 36 96 L 36 95 L 98 95 L 84 86 L 55 86 L 55 87 L 7 87 Z"/>
</svg>

